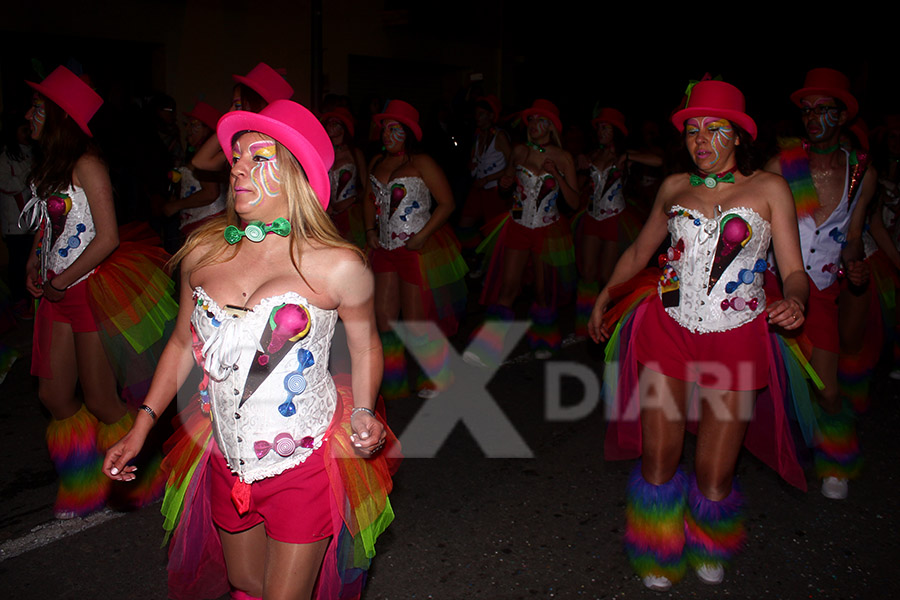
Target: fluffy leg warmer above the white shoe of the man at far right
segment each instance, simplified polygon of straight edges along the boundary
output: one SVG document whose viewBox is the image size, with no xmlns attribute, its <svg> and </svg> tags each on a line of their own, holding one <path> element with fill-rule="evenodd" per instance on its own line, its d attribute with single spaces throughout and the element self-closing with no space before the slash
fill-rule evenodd
<svg viewBox="0 0 900 600">
<path fill-rule="evenodd" d="M 862 467 L 853 411 L 846 404 L 834 415 L 822 410 L 818 404 L 815 408 L 818 426 L 815 449 L 816 475 L 819 479 L 824 477 L 853 479 L 859 475 Z"/>
</svg>

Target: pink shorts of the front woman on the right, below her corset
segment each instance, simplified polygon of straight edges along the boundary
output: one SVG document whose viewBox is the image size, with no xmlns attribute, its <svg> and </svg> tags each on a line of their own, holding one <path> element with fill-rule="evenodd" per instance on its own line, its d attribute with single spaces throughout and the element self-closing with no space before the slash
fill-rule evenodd
<svg viewBox="0 0 900 600">
<path fill-rule="evenodd" d="M 650 300 L 635 335 L 640 364 L 667 377 L 714 390 L 758 390 L 769 380 L 766 313 L 736 329 L 692 333 Z"/>
</svg>

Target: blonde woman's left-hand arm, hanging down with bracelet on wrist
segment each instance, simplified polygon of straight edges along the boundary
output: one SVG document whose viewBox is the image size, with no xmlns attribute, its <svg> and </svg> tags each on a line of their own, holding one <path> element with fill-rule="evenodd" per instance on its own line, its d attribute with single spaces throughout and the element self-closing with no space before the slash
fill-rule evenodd
<svg viewBox="0 0 900 600">
<path fill-rule="evenodd" d="M 194 310 L 193 290 L 190 284 L 190 257 L 181 265 L 181 297 L 178 305 L 178 318 L 175 329 L 159 357 L 150 391 L 144 399 L 157 415 L 162 415 L 169 403 L 178 394 L 185 379 L 194 366 L 194 355 L 191 344 L 191 313 Z M 131 481 L 134 479 L 134 467 L 127 467 L 128 461 L 134 458 L 147 439 L 147 434 L 156 421 L 148 413 L 139 410 L 134 417 L 131 430 L 106 453 L 103 460 L 103 472 L 112 479 Z"/>
</svg>

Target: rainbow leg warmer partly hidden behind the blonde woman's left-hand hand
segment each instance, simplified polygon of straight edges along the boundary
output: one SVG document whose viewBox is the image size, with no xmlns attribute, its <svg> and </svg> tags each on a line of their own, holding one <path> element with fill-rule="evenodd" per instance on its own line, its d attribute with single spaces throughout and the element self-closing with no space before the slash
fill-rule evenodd
<svg viewBox="0 0 900 600">
<path fill-rule="evenodd" d="M 97 450 L 100 455 L 105 455 L 107 450 L 121 440 L 131 430 L 132 424 L 134 415 L 130 412 L 126 412 L 121 419 L 110 425 L 101 422 L 97 428 Z M 144 455 L 148 457 L 144 458 Z M 167 475 L 160 468 L 162 454 L 159 451 L 141 452 L 132 462 L 138 464 L 135 473 L 137 478 L 128 483 L 113 483 L 109 499 L 109 504 L 113 508 L 141 508 L 160 499 L 166 491 Z"/>
</svg>

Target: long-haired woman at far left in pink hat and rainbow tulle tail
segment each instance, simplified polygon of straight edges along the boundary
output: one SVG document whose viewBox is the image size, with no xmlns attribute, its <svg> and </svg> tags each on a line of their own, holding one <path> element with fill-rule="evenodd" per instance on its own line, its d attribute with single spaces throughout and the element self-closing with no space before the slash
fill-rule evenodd
<svg viewBox="0 0 900 600">
<path fill-rule="evenodd" d="M 174 304 L 171 281 L 159 269 L 165 254 L 120 240 L 109 173 L 88 126 L 103 100 L 65 67 L 27 83 L 35 91 L 26 118 L 42 148 L 31 173 L 34 197 L 22 211 L 22 220 L 38 229 L 26 277 L 39 299 L 31 372 L 53 417 L 47 444 L 60 477 L 54 512 L 70 519 L 112 501 L 116 490 L 100 472 L 101 453 L 133 420 L 116 374 L 146 367 L 153 354 L 146 351 L 162 343 Z M 79 382 L 83 401 L 75 395 Z M 135 408 L 139 383 L 118 382 Z M 148 477 L 157 471 L 147 470 Z M 145 497 L 132 500 L 155 499 L 161 483 L 145 480 Z"/>
</svg>

